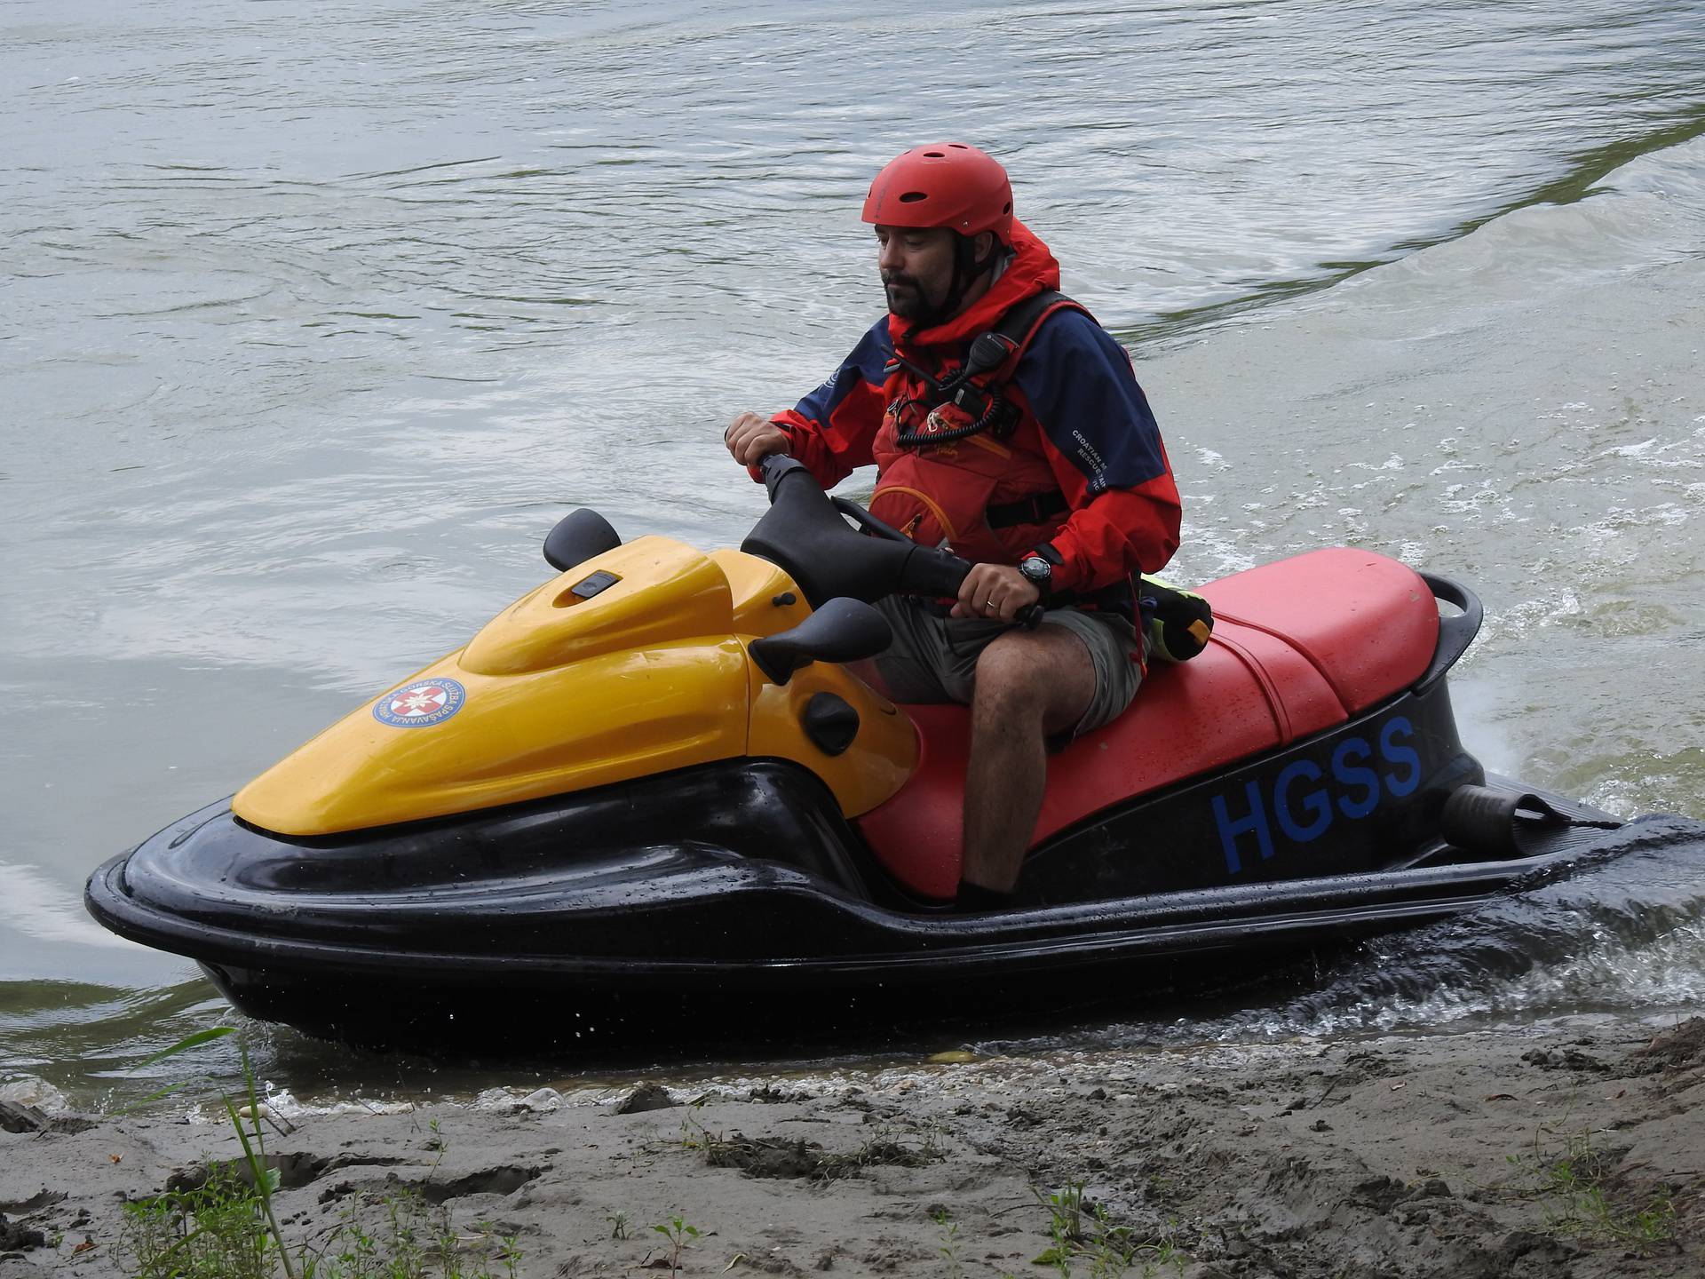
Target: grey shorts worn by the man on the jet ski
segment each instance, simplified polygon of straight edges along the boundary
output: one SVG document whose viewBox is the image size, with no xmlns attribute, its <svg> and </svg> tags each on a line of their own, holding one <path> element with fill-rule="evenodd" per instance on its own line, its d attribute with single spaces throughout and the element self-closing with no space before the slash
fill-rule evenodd
<svg viewBox="0 0 1705 1279">
<path fill-rule="evenodd" d="M 895 701 L 970 704 L 977 658 L 1011 628 L 982 617 L 938 617 L 922 600 L 890 595 L 876 607 L 893 628 L 893 645 L 876 657 L 876 672 Z M 1043 626 L 1061 626 L 1089 650 L 1095 696 L 1066 740 L 1113 720 L 1137 696 L 1142 650 L 1136 628 L 1108 612 L 1049 609 Z"/>
</svg>

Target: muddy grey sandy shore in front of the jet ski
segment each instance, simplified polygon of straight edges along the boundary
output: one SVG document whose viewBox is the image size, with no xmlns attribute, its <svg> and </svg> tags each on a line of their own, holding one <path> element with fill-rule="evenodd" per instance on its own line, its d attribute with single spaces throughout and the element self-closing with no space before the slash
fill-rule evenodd
<svg viewBox="0 0 1705 1279">
<path fill-rule="evenodd" d="M 1083 1185 L 1072 1274 L 1705 1274 L 1705 1020 L 936 1062 L 709 1090 L 298 1112 L 281 1226 L 416 1189 L 522 1276 L 1055 1274 L 1043 1197 Z M 639 1108 L 643 1105 L 655 1108 Z M 237 1144 L 181 1114 L 5 1110 L 0 1276 L 126 1272 L 121 1202 Z M 174 1180 L 176 1178 L 176 1180 Z M 489 1231 L 481 1238 L 481 1223 Z M 1129 1228 L 1120 1233 L 1117 1228 Z M 39 1241 L 38 1241 L 39 1240 Z M 472 1259 L 471 1259 L 472 1260 Z M 498 1267 L 501 1272 L 501 1267 Z"/>
</svg>

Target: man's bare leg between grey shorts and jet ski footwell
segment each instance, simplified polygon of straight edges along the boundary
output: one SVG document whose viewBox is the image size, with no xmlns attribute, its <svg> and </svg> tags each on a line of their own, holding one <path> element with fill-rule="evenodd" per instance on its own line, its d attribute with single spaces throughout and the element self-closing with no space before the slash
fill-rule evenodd
<svg viewBox="0 0 1705 1279">
<path fill-rule="evenodd" d="M 1011 892 L 1042 810 L 1045 737 L 1083 718 L 1095 663 L 1071 631 L 1008 631 L 977 658 L 965 769 L 967 883 Z"/>
</svg>

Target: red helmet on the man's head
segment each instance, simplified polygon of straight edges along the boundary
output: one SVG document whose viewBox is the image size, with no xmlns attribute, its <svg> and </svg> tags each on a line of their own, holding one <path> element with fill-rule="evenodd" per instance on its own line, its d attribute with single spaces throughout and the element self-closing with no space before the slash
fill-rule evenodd
<svg viewBox="0 0 1705 1279">
<path fill-rule="evenodd" d="M 991 155 L 963 142 L 938 142 L 888 160 L 864 196 L 864 222 L 885 227 L 948 227 L 960 235 L 992 230 L 1013 242 L 1013 184 Z"/>
</svg>

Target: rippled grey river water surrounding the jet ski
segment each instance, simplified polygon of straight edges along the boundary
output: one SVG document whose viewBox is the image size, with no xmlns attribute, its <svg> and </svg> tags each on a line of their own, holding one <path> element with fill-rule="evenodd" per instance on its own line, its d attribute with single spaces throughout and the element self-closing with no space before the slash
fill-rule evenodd
<svg viewBox="0 0 1705 1279">
<path fill-rule="evenodd" d="M 14 0 L 0 87 L 0 1074 L 95 1097 L 218 1016 L 87 871 L 462 643 L 556 515 L 738 541 L 721 426 L 880 312 L 863 188 L 938 136 L 1132 346 L 1178 578 L 1463 576 L 1490 766 L 1705 817 L 1700 0 Z M 1069 1037 L 1686 1006 L 1702 878 L 1534 902 L 1543 964 Z"/>
</svg>

